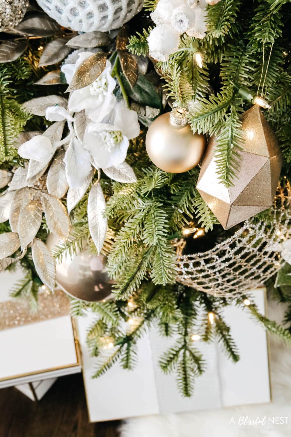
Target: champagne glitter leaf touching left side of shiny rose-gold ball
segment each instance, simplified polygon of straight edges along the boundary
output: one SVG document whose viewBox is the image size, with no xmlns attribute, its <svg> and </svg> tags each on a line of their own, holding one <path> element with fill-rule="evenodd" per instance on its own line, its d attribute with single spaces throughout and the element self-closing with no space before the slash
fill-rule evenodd
<svg viewBox="0 0 291 437">
<path fill-rule="evenodd" d="M 45 243 L 34 238 L 31 245 L 32 260 L 41 281 L 51 290 L 55 288 L 55 259 Z"/>
</svg>

